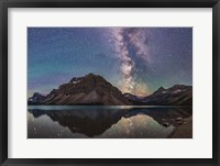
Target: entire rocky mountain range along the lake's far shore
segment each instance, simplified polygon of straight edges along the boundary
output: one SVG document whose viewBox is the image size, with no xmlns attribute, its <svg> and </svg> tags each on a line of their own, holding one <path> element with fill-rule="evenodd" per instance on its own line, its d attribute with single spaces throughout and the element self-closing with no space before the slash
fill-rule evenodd
<svg viewBox="0 0 220 166">
<path fill-rule="evenodd" d="M 161 87 L 147 97 L 138 97 L 122 93 L 99 75 L 88 74 L 85 77 L 74 77 L 46 96 L 35 92 L 28 99 L 28 104 L 191 106 L 193 87 L 184 85 L 175 85 L 168 89 Z"/>
</svg>

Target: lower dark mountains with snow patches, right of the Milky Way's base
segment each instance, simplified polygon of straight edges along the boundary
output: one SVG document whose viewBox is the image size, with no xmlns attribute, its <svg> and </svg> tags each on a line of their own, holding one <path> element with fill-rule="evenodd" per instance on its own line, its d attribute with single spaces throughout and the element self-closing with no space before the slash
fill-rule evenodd
<svg viewBox="0 0 220 166">
<path fill-rule="evenodd" d="M 163 87 L 158 88 L 152 95 L 145 98 L 135 96 L 127 96 L 125 98 L 132 104 L 146 104 L 146 106 L 191 106 L 193 104 L 193 87 L 185 85 L 175 85 L 168 89 Z"/>
</svg>

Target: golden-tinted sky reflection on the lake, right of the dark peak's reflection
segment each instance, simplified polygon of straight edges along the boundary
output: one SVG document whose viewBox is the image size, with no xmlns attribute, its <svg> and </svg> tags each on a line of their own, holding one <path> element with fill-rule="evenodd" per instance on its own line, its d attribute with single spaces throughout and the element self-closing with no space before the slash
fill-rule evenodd
<svg viewBox="0 0 220 166">
<path fill-rule="evenodd" d="M 138 114 L 122 118 L 102 135 L 97 137 L 167 137 L 174 126 L 164 128 L 148 115 Z"/>
</svg>

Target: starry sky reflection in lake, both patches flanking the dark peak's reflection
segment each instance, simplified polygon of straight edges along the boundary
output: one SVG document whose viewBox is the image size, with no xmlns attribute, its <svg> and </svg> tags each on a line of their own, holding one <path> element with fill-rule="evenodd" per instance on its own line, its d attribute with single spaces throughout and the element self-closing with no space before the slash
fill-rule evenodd
<svg viewBox="0 0 220 166">
<path fill-rule="evenodd" d="M 37 123 L 35 123 L 36 121 Z M 35 124 L 34 126 L 29 122 L 29 136 L 31 135 L 31 137 L 86 137 L 82 134 L 73 134 L 67 126 L 63 128 L 45 115 L 35 119 L 35 122 L 33 123 Z M 166 137 L 172 131 L 173 126 L 164 128 L 148 115 L 139 114 L 122 118 L 103 134 L 95 137 Z"/>
</svg>

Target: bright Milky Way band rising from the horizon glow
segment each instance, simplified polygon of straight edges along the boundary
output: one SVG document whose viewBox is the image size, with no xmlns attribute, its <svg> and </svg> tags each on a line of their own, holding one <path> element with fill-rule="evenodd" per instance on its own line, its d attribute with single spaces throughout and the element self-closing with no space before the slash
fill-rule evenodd
<svg viewBox="0 0 220 166">
<path fill-rule="evenodd" d="M 150 63 L 150 55 L 147 53 L 146 43 L 146 30 L 111 27 L 107 33 L 110 34 L 109 41 L 114 45 L 117 58 L 119 58 L 121 62 L 121 73 L 123 75 L 121 82 L 122 91 L 131 92 L 134 95 L 146 95 L 148 92 L 147 82 L 141 85 L 135 81 L 138 68 L 135 67 L 135 63 L 132 59 L 132 54 L 134 54 L 146 64 Z"/>
</svg>

